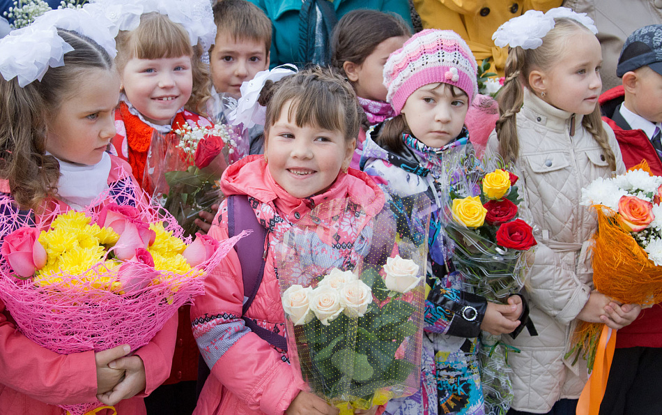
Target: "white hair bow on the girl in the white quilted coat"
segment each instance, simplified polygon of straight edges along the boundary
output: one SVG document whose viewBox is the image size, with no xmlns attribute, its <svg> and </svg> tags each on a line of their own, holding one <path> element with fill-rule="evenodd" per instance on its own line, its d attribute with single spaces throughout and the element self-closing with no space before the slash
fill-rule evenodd
<svg viewBox="0 0 662 415">
<path fill-rule="evenodd" d="M 583 24 L 587 29 L 598 33 L 593 20 L 586 13 L 576 13 L 567 7 L 557 7 L 542 13 L 538 10 L 528 10 L 519 17 L 514 17 L 502 24 L 492 35 L 494 44 L 499 47 L 522 47 L 535 49 L 542 45 L 542 38 L 555 26 L 555 18 L 566 17 Z"/>
</svg>

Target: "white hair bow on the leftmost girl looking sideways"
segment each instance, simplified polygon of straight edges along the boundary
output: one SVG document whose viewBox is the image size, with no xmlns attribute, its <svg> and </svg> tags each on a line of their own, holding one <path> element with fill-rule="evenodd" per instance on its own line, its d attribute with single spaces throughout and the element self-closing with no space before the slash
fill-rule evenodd
<svg viewBox="0 0 662 415">
<path fill-rule="evenodd" d="M 42 80 L 48 68 L 64 65 L 64 54 L 73 47 L 58 36 L 57 29 L 75 31 L 91 38 L 114 58 L 115 39 L 111 22 L 83 9 L 49 10 L 27 27 L 0 39 L 0 74 L 5 80 L 17 77 L 21 87 Z"/>
</svg>

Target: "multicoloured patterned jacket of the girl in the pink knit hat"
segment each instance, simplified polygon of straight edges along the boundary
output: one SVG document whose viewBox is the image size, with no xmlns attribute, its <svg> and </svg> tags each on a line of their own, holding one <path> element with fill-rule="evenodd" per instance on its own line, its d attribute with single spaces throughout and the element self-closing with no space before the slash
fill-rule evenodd
<svg viewBox="0 0 662 415">
<path fill-rule="evenodd" d="M 424 192 L 438 207 L 433 212 L 428 239 L 421 391 L 392 400 L 386 413 L 397 415 L 483 414 L 482 388 L 477 360 L 477 335 L 486 300 L 463 289 L 459 273 L 449 259 L 440 209 L 449 183 L 442 183 L 442 158 L 451 149 L 472 153 L 466 128 L 442 149 L 432 149 L 415 137 L 403 135 L 403 151 L 394 153 L 374 141 L 380 125 L 368 132 L 362 169 L 378 176 L 391 195 L 405 197 Z"/>
</svg>

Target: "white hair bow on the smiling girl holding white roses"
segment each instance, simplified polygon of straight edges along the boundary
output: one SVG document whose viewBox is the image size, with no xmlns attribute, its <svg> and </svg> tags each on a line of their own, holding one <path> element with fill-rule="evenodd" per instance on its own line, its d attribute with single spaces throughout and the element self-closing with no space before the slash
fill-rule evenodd
<svg viewBox="0 0 662 415">
<path fill-rule="evenodd" d="M 267 109 L 260 105 L 257 100 L 260 98 L 260 92 L 262 91 L 264 84 L 268 80 L 278 82 L 287 75 L 292 75 L 297 72 L 298 70 L 296 66 L 291 65 L 290 63 L 285 63 L 272 70 L 263 70 L 256 73 L 252 80 L 244 82 L 239 87 L 241 98 L 239 98 L 237 107 L 228 114 L 228 121 L 230 121 L 233 126 L 238 126 L 240 123 L 243 123 L 244 129 L 251 128 L 256 124 L 263 126 L 267 115 Z"/>
</svg>

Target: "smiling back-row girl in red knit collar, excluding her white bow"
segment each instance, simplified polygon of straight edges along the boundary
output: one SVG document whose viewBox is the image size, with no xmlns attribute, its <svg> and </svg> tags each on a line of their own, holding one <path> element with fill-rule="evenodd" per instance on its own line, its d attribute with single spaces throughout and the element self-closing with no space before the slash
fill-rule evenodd
<svg viewBox="0 0 662 415">
<path fill-rule="evenodd" d="M 213 24 L 213 16 L 208 18 Z M 139 26 L 120 31 L 116 42 L 122 96 L 115 116 L 120 121 L 118 133 L 112 143 L 141 181 L 155 131 L 170 133 L 183 123 L 211 125 L 200 115 L 210 97 L 211 82 L 201 61 L 205 52 L 201 41 L 190 45 L 187 29 L 167 15 L 141 15 Z"/>
</svg>

